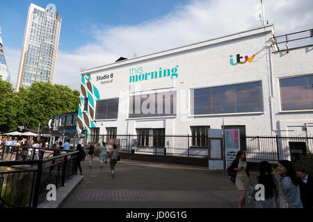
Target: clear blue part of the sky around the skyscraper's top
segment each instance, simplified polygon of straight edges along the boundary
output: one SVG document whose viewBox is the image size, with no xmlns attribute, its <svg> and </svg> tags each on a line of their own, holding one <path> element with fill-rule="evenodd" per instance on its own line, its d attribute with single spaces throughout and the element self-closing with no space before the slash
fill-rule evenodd
<svg viewBox="0 0 313 222">
<path fill-rule="evenodd" d="M 7 47 L 22 47 L 29 5 L 45 8 L 54 3 L 63 18 L 59 49 L 72 51 L 77 46 L 95 42 L 92 26 L 132 26 L 166 15 L 184 0 L 1 0 L 1 35 Z"/>
</svg>

